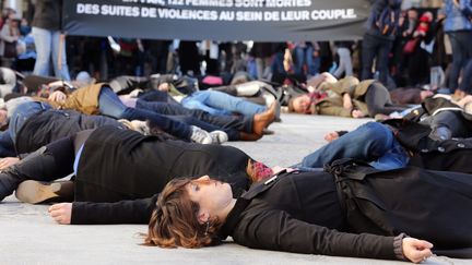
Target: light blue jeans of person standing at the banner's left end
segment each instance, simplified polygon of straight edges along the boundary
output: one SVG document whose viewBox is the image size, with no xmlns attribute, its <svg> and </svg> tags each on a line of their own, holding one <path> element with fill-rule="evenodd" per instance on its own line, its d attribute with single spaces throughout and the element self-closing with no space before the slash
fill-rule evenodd
<svg viewBox="0 0 472 265">
<path fill-rule="evenodd" d="M 34 74 L 42 76 L 49 76 L 49 61 L 52 55 L 52 65 L 55 75 L 58 79 L 70 81 L 69 68 L 66 58 L 66 41 L 60 41 L 59 31 L 49 31 L 39 27 L 33 27 L 32 31 L 35 47 L 36 47 L 36 63 L 34 67 Z M 59 47 L 61 45 L 61 47 Z M 58 65 L 59 50 L 61 50 L 60 70 Z"/>
</svg>

